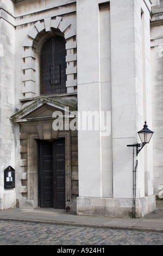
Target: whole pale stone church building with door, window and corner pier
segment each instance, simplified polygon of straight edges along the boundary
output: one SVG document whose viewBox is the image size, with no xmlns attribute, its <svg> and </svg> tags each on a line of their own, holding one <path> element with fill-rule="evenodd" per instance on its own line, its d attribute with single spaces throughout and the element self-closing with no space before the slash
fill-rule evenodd
<svg viewBox="0 0 163 256">
<path fill-rule="evenodd" d="M 1 0 L 0 210 L 141 217 L 163 194 L 163 1 Z M 154 131 L 139 154 L 137 134 Z"/>
</svg>

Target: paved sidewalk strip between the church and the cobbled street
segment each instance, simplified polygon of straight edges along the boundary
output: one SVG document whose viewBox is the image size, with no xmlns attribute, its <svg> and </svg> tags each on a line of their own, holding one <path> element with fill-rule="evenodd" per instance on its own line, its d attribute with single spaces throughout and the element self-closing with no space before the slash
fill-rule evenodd
<svg viewBox="0 0 163 256">
<path fill-rule="evenodd" d="M 79 216 L 53 208 L 13 208 L 0 210 L 0 220 L 163 232 L 163 201 L 156 201 L 156 210 L 142 218 Z"/>
</svg>

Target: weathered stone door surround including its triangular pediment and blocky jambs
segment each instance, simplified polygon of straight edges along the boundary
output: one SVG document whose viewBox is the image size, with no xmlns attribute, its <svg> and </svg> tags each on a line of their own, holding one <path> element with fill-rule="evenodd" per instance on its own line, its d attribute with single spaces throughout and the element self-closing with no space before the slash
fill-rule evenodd
<svg viewBox="0 0 163 256">
<path fill-rule="evenodd" d="M 65 107 L 70 109 L 70 113 L 77 110 L 65 103 L 43 96 L 10 118 L 20 125 L 21 156 L 17 159 L 20 162 L 20 170 L 18 170 L 20 185 L 17 190 L 20 208 L 38 207 L 37 140 L 46 141 L 58 138 L 65 138 L 66 205 L 70 204 L 72 209 L 76 208 L 74 196 L 78 196 L 78 187 L 76 186 L 77 182 L 72 182 L 72 178 L 77 180 L 78 177 L 77 173 L 74 175 L 74 168 L 72 167 L 78 166 L 77 153 L 74 152 L 77 150 L 74 148 L 73 139 L 73 137 L 78 137 L 78 131 L 53 130 L 54 111 L 60 111 L 64 114 Z M 71 154 L 71 147 L 73 154 Z"/>
</svg>

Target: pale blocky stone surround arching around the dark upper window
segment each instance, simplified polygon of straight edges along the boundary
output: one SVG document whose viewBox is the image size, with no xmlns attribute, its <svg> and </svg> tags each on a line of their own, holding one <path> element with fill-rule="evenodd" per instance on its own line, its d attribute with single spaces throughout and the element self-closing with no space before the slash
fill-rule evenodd
<svg viewBox="0 0 163 256">
<path fill-rule="evenodd" d="M 24 97 L 30 98 L 38 96 L 35 90 L 36 83 L 36 48 L 39 45 L 40 36 L 45 36 L 46 33 L 51 33 L 54 29 L 57 29 L 64 34 L 66 40 L 66 88 L 67 93 L 76 92 L 77 87 L 77 67 L 76 67 L 76 47 L 77 43 L 76 32 L 72 28 L 71 24 L 62 17 L 48 17 L 43 21 L 37 21 L 32 30 L 30 30 L 23 41 L 23 88 L 22 93 Z"/>
</svg>

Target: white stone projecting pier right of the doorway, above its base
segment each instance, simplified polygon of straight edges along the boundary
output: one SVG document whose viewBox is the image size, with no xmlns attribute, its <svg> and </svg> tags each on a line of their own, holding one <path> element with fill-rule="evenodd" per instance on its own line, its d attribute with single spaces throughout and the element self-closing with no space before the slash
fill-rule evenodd
<svg viewBox="0 0 163 256">
<path fill-rule="evenodd" d="M 111 111 L 111 133 L 103 138 L 100 131 L 79 131 L 78 209 L 81 203 L 93 211 L 92 197 L 123 198 L 128 208 L 127 200 L 133 196 L 133 148 L 127 144 L 140 142 L 137 131 L 146 119 L 152 130 L 151 4 L 116 0 L 107 10 L 101 1 L 86 3 L 77 1 L 78 109 L 80 116 L 82 111 Z M 152 143 L 148 146 L 137 157 L 137 198 L 153 194 Z"/>
</svg>

